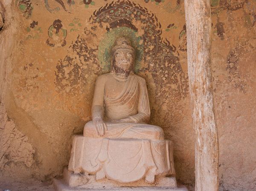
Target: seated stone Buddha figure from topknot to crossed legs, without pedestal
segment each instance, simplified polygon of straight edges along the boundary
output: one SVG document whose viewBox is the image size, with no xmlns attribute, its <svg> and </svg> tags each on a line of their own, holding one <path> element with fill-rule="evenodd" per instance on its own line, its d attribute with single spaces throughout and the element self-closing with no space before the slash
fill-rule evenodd
<svg viewBox="0 0 256 191">
<path fill-rule="evenodd" d="M 164 140 L 163 129 L 148 124 L 150 108 L 144 78 L 134 74 L 135 50 L 128 38 L 115 41 L 111 72 L 96 80 L 92 119 L 84 136 Z"/>
</svg>

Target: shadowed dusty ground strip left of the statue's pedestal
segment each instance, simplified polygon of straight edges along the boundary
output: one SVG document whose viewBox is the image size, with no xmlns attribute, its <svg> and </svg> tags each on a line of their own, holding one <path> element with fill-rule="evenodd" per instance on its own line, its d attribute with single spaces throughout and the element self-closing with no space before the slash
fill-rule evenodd
<svg viewBox="0 0 256 191">
<path fill-rule="evenodd" d="M 0 180 L 0 191 L 55 191 L 52 182 L 41 182 L 35 179 L 26 179 L 12 182 Z"/>
</svg>

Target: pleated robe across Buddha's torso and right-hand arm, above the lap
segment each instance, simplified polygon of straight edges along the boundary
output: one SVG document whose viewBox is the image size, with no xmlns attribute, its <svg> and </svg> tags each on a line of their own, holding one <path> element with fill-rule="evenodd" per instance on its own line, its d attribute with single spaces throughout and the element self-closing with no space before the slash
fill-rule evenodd
<svg viewBox="0 0 256 191">
<path fill-rule="evenodd" d="M 94 98 L 93 98 L 94 99 Z M 130 117 L 134 122 L 147 123 L 150 119 L 150 107 L 146 81 L 131 74 L 117 98 L 104 95 L 105 120 Z"/>
</svg>

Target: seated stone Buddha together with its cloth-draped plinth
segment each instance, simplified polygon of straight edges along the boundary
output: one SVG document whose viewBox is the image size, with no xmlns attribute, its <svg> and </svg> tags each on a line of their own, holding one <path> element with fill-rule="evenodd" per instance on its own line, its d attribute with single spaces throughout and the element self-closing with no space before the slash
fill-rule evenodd
<svg viewBox="0 0 256 191">
<path fill-rule="evenodd" d="M 111 49 L 111 72 L 96 80 L 92 121 L 85 124 L 83 135 L 73 139 L 66 169 L 66 174 L 71 173 L 66 176 L 70 186 L 89 184 L 92 179 L 130 186 L 144 181 L 148 186 L 155 176 L 175 174 L 172 142 L 164 140 L 161 127 L 148 124 L 147 86 L 144 78 L 134 74 L 134 62 L 131 41 L 118 38 Z M 81 177 L 85 178 L 77 183 Z"/>
</svg>

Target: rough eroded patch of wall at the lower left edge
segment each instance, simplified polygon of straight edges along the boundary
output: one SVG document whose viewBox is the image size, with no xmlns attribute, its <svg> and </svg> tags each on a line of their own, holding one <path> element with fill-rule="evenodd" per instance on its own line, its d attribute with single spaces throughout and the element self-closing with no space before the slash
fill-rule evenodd
<svg viewBox="0 0 256 191">
<path fill-rule="evenodd" d="M 0 128 L 0 179 L 30 177 L 29 174 L 35 170 L 32 166 L 35 165 L 35 150 L 28 137 L 17 130 L 15 123 L 7 116 L 3 104 L 0 105 L 0 124 L 4 127 Z"/>
</svg>

